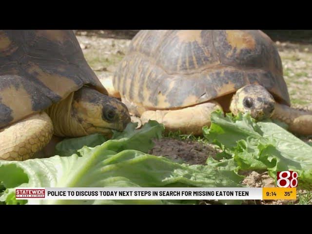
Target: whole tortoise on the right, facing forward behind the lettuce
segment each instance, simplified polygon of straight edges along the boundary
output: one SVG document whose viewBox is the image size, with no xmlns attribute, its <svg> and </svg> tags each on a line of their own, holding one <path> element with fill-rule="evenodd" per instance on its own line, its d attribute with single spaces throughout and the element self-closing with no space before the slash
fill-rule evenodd
<svg viewBox="0 0 312 234">
<path fill-rule="evenodd" d="M 221 109 L 312 134 L 312 111 L 290 107 L 277 48 L 259 30 L 141 30 L 113 85 L 130 113 L 167 131 L 200 135 Z"/>
</svg>

